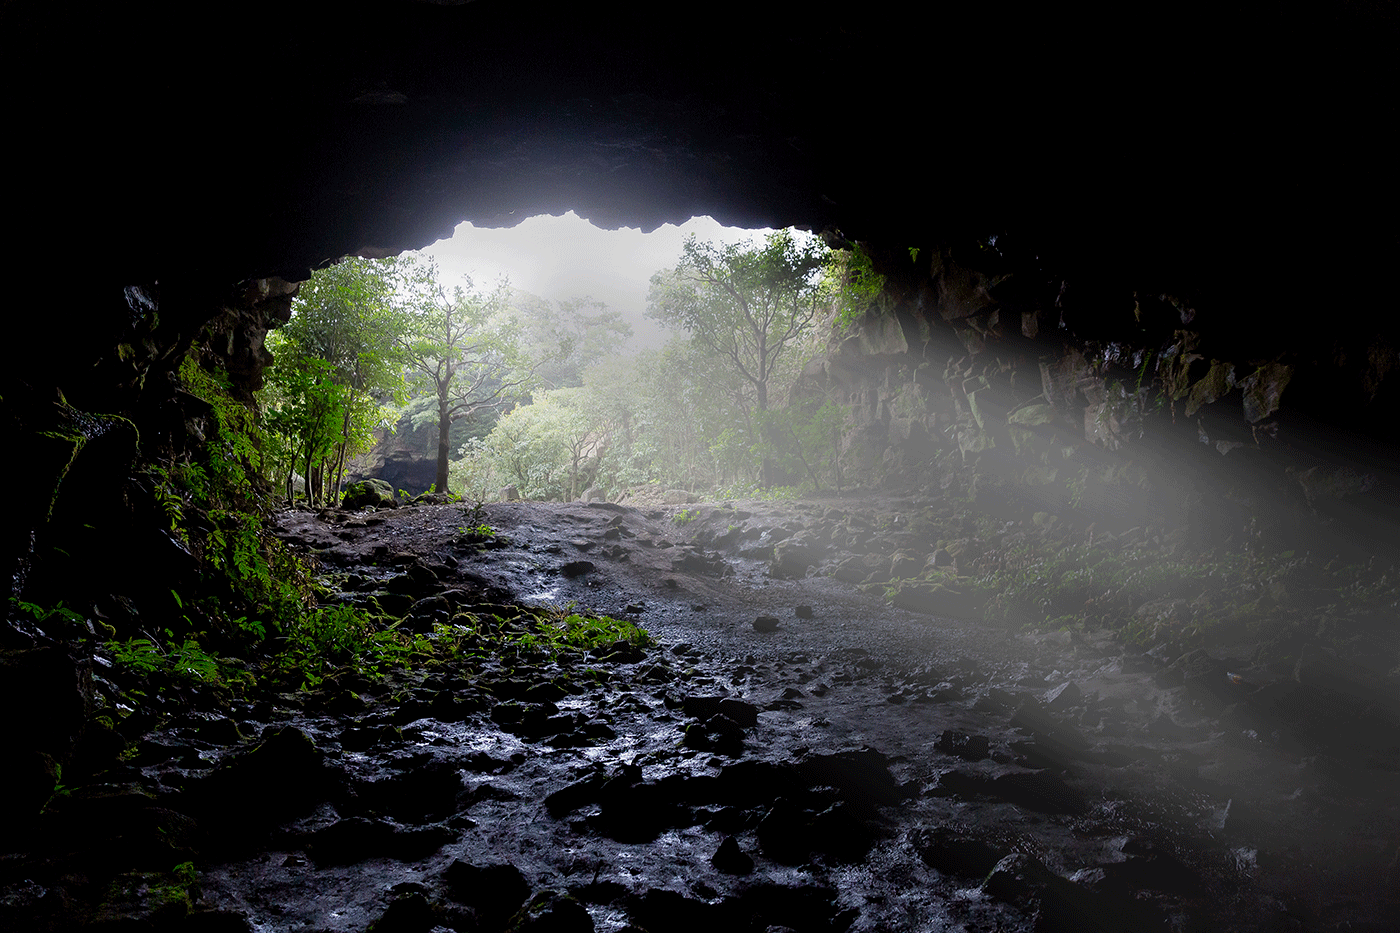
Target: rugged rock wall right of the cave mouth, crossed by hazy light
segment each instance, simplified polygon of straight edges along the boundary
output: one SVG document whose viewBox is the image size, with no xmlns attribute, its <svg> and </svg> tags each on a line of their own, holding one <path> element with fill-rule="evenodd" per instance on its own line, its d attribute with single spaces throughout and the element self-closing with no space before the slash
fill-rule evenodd
<svg viewBox="0 0 1400 933">
<path fill-rule="evenodd" d="M 847 481 L 1200 545 L 1390 549 L 1394 326 L 1221 319 L 1014 238 L 890 247 L 869 247 L 885 294 L 799 382 L 848 409 Z"/>
</svg>

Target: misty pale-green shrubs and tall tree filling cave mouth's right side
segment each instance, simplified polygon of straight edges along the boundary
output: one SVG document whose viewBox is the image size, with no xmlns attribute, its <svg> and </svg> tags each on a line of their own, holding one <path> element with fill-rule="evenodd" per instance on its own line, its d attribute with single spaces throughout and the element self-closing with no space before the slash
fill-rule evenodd
<svg viewBox="0 0 1400 933">
<path fill-rule="evenodd" d="M 825 352 L 829 315 L 879 291 L 861 262 L 869 265 L 860 251 L 829 251 L 794 231 L 736 245 L 689 241 L 652 276 L 648 311 L 683 333 L 623 360 L 610 354 L 615 319 L 556 326 L 561 346 L 592 339 L 603 359 L 566 367 L 580 384 L 533 392 L 462 445 L 454 482 L 510 483 L 526 499 L 573 499 L 591 486 L 839 490 L 844 412 L 802 381 L 802 367 Z M 539 300 L 529 307 L 547 321 L 559 314 Z"/>
</svg>

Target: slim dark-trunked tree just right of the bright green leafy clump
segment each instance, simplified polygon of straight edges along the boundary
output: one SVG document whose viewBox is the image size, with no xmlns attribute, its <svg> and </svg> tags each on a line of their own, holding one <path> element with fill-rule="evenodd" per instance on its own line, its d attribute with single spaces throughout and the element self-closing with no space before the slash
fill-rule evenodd
<svg viewBox="0 0 1400 933">
<path fill-rule="evenodd" d="M 521 350 L 518 324 L 504 314 L 507 286 L 477 291 L 470 279 L 451 293 L 437 266 L 417 265 L 409 277 L 412 326 L 400 346 L 419 398 L 414 422 L 438 427 L 434 488 L 447 492 L 452 423 L 497 410 L 536 382 Z"/>
</svg>

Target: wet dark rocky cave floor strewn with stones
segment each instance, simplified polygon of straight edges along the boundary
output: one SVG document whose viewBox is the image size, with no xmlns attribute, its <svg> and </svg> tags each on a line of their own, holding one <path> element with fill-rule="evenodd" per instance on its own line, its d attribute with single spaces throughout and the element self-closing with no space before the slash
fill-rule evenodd
<svg viewBox="0 0 1400 933">
<path fill-rule="evenodd" d="M 197 699 L 18 828 L 0 926 L 1390 929 L 1385 684 L 909 612 L 823 576 L 848 516 L 736 514 L 280 516 L 424 630 L 519 600 L 657 644 Z M 788 539 L 811 569 L 752 549 Z M 162 887 L 176 863 L 197 881 Z"/>
</svg>

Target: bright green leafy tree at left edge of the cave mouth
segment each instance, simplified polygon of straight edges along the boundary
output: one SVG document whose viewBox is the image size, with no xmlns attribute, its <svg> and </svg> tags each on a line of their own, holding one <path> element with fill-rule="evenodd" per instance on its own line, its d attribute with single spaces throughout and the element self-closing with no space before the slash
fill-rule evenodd
<svg viewBox="0 0 1400 933">
<path fill-rule="evenodd" d="M 259 394 L 274 469 L 291 496 L 300 466 L 311 502 L 340 485 L 346 458 L 365 450 L 402 402 L 405 317 L 396 261 L 344 259 L 302 284 L 291 321 L 269 335 L 273 364 Z"/>
</svg>

